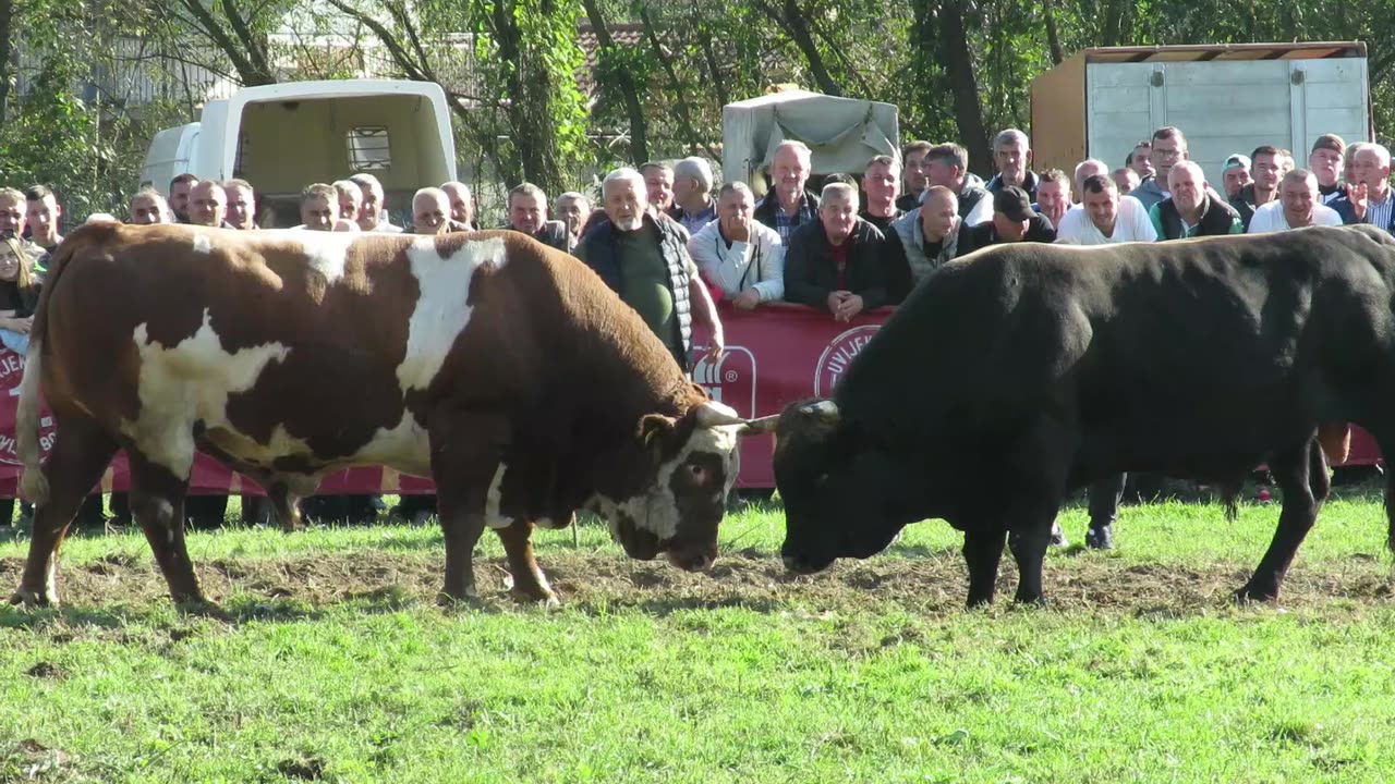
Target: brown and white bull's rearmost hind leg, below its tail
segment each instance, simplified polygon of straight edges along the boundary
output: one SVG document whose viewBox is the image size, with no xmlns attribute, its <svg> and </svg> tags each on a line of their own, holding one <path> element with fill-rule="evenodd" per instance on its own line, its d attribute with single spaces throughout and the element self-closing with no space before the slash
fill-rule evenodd
<svg viewBox="0 0 1395 784">
<path fill-rule="evenodd" d="M 116 441 L 92 420 L 60 419 L 59 428 L 60 435 L 43 466 L 49 497 L 33 511 L 29 557 L 10 604 L 59 604 L 57 571 L 63 540 L 68 536 L 78 506 L 116 455 Z"/>
</svg>

